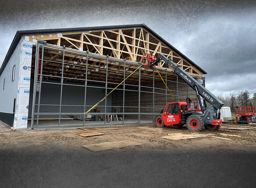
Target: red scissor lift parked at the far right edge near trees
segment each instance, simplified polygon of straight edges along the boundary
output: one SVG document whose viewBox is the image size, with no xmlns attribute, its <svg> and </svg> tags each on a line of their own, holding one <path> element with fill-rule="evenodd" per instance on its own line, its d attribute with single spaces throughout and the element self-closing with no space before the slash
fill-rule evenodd
<svg viewBox="0 0 256 188">
<path fill-rule="evenodd" d="M 235 115 L 241 116 L 236 117 L 237 123 L 256 123 L 256 107 L 255 106 L 236 106 Z"/>
</svg>

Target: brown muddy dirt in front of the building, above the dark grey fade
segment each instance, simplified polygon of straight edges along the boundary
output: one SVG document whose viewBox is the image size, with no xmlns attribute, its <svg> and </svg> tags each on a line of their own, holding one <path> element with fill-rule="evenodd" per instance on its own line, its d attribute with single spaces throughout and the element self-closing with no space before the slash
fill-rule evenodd
<svg viewBox="0 0 256 188">
<path fill-rule="evenodd" d="M 217 148 L 225 149 L 232 148 L 234 150 L 247 150 L 255 151 L 256 149 L 256 126 L 246 125 L 246 124 L 232 124 L 225 123 L 221 126 L 219 131 L 209 131 L 203 129 L 200 132 L 194 132 L 186 130 L 186 127 L 163 127 L 163 132 L 161 134 L 152 133 L 142 133 L 144 129 L 139 129 L 138 127 L 150 127 L 156 128 L 154 124 L 148 125 L 126 125 L 126 126 L 113 126 L 118 130 L 95 130 L 94 132 L 103 133 L 104 135 L 82 137 L 69 131 L 81 130 L 78 128 L 69 129 L 34 129 L 34 130 L 13 130 L 9 129 L 3 124 L 0 124 L 0 145 L 2 149 L 11 148 L 51 148 L 56 145 L 61 148 L 81 148 L 82 145 L 86 144 L 96 144 L 101 142 L 112 142 L 121 140 L 130 140 L 135 142 L 140 142 L 145 145 L 139 147 L 133 147 L 133 149 L 138 150 L 169 150 L 169 149 L 193 149 L 196 148 Z M 227 128 L 231 127 L 243 127 L 250 128 L 248 130 L 229 130 Z M 86 128 L 86 127 L 82 127 Z M 82 130 L 81 130 L 82 131 Z M 172 133 L 182 133 L 182 134 L 200 134 L 205 137 L 191 139 L 191 140 L 169 140 L 160 138 Z M 224 134 L 238 135 L 235 136 L 225 136 Z M 217 136 L 221 138 L 231 139 L 232 141 L 222 140 L 213 138 L 211 136 Z M 129 150 L 131 148 L 123 148 L 122 150 Z"/>
</svg>

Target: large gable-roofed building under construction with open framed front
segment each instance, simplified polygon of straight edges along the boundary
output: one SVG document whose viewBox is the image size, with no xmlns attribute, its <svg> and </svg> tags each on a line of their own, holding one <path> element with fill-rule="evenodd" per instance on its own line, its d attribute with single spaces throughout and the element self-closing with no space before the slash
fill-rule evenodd
<svg viewBox="0 0 256 188">
<path fill-rule="evenodd" d="M 17 31 L 0 69 L 0 121 L 14 129 L 142 124 L 168 102 L 198 104 L 164 62 L 147 66 L 159 53 L 205 85 L 206 72 L 145 24 Z"/>
</svg>

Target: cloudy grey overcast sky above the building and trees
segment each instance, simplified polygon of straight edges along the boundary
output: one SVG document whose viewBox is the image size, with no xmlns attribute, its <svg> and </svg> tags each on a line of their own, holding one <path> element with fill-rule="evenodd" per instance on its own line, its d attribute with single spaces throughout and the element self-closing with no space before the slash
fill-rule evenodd
<svg viewBox="0 0 256 188">
<path fill-rule="evenodd" d="M 145 23 L 207 72 L 214 95 L 256 92 L 256 0 L 0 1 L 0 66 L 17 30 Z"/>
</svg>

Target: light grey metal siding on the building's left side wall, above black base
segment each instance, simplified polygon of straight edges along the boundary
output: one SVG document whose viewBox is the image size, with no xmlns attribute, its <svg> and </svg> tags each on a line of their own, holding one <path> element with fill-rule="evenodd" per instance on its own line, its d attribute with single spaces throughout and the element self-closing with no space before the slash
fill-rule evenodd
<svg viewBox="0 0 256 188">
<path fill-rule="evenodd" d="M 13 113 L 14 98 L 17 99 L 19 72 L 20 72 L 20 57 L 21 57 L 21 39 L 15 48 L 11 58 L 9 59 L 5 69 L 0 75 L 0 112 Z M 15 65 L 15 77 L 12 81 L 12 69 Z M 3 83 L 5 79 L 5 89 Z M 17 100 L 16 100 L 17 103 Z"/>
</svg>

